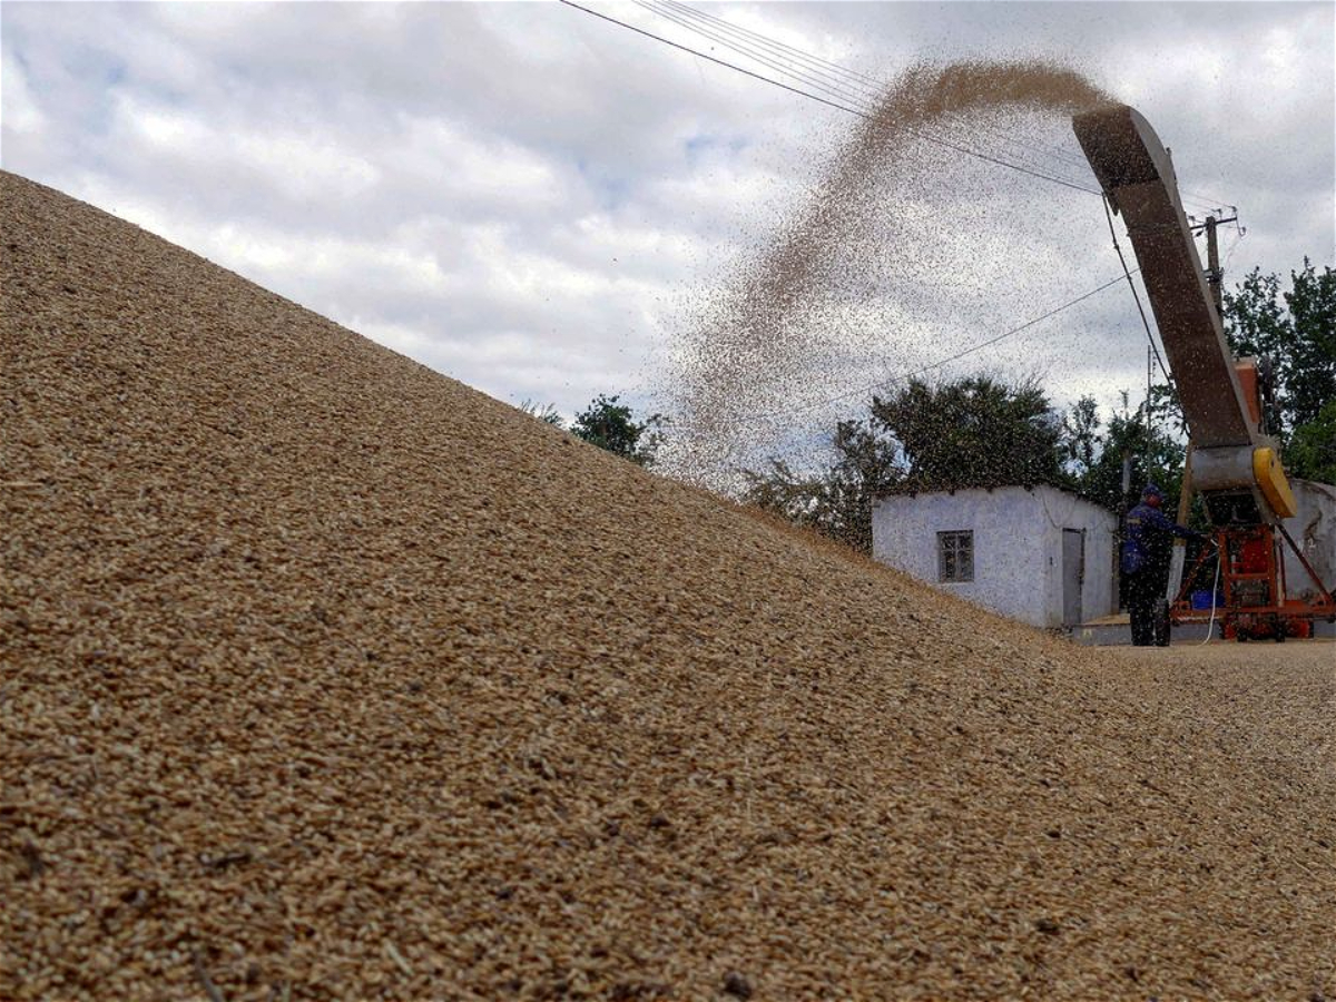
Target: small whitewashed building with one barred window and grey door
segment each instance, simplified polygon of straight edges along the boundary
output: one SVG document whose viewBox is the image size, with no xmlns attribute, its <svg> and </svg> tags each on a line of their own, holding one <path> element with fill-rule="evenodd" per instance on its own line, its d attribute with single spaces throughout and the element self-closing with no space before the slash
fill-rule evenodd
<svg viewBox="0 0 1336 1002">
<path fill-rule="evenodd" d="M 872 556 L 1035 627 L 1118 611 L 1117 520 L 1049 486 L 891 494 L 872 502 Z"/>
</svg>

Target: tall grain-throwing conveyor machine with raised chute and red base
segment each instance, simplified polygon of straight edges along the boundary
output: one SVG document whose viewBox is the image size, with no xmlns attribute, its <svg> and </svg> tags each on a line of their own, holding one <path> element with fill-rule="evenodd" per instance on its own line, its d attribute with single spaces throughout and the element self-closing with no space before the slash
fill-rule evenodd
<svg viewBox="0 0 1336 1002">
<path fill-rule="evenodd" d="M 1128 226 L 1177 383 L 1193 488 L 1218 545 L 1224 633 L 1240 640 L 1305 636 L 1315 619 L 1336 620 L 1336 599 L 1285 530 L 1296 500 L 1279 445 L 1265 433 L 1259 362 L 1236 359 L 1225 341 L 1169 151 L 1125 104 L 1075 115 L 1071 124 L 1109 207 Z M 1292 597 L 1283 546 L 1315 585 L 1304 597 Z M 1204 552 L 1184 576 L 1170 608 L 1174 623 L 1206 620 L 1209 613 L 1193 609 L 1186 596 L 1210 557 Z"/>
</svg>

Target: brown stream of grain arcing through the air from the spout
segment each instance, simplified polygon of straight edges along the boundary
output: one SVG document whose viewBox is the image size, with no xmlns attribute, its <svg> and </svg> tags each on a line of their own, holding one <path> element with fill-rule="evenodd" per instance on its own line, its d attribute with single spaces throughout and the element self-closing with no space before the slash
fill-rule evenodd
<svg viewBox="0 0 1336 1002">
<path fill-rule="evenodd" d="M 1073 114 L 1112 100 L 1078 72 L 1038 61 L 922 64 L 903 72 L 788 222 L 744 258 L 683 333 L 669 375 L 679 432 L 673 472 L 727 482 L 751 446 L 783 436 L 794 420 L 787 409 L 804 403 L 814 382 L 826 385 L 832 373 L 866 375 L 858 362 L 879 341 L 883 354 L 895 351 L 884 341 L 883 318 L 858 327 L 830 305 L 906 279 L 907 265 L 896 257 L 903 248 L 879 244 L 875 220 L 894 218 L 898 202 L 921 194 L 922 176 L 896 171 L 908 150 L 934 139 L 969 147 L 969 130 L 981 124 L 989 128 L 982 146 L 993 148 L 1010 112 L 1057 116 L 1065 127 Z M 963 132 L 943 136 L 943 126 Z M 966 155 L 951 147 L 931 170 L 950 171 Z M 933 248 L 910 253 L 931 255 Z"/>
</svg>

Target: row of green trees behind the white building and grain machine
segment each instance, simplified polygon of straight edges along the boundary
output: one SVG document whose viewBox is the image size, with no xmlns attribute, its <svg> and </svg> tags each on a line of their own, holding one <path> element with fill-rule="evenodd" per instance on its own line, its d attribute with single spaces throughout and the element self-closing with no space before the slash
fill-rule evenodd
<svg viewBox="0 0 1336 1002">
<path fill-rule="evenodd" d="M 1236 357 L 1273 363 L 1268 430 L 1293 477 L 1336 482 L 1336 273 L 1305 259 L 1291 287 L 1255 270 L 1224 297 Z M 1047 484 L 1122 514 L 1124 460 L 1132 482 L 1158 484 L 1170 510 L 1182 488 L 1185 422 L 1173 390 L 1154 386 L 1136 409 L 1124 394 L 1105 424 L 1092 397 L 1054 409 L 1034 381 L 981 374 L 951 382 L 911 379 L 874 397 L 863 415 L 839 421 L 834 460 L 795 472 L 772 458 L 747 470 L 745 500 L 871 550 L 879 494 Z M 1192 521 L 1198 524 L 1197 509 Z"/>
</svg>

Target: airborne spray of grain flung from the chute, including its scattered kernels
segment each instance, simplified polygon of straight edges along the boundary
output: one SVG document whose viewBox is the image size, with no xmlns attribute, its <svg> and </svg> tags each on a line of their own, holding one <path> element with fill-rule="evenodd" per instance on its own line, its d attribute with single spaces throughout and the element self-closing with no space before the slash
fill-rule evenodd
<svg viewBox="0 0 1336 1002">
<path fill-rule="evenodd" d="M 673 472 L 727 489 L 739 466 L 791 452 L 795 425 L 815 421 L 828 432 L 835 417 L 863 406 L 868 397 L 851 399 L 850 386 L 903 371 L 902 354 L 922 361 L 922 334 L 941 321 L 941 286 L 959 303 L 971 282 L 951 254 L 965 244 L 973 262 L 981 208 L 1017 206 L 1022 223 L 1053 211 L 1022 203 L 1018 175 L 997 164 L 962 176 L 963 167 L 979 168 L 962 150 L 1027 163 L 1034 151 L 1015 142 L 1026 138 L 1026 114 L 1057 126 L 1070 144 L 1070 116 L 1112 100 L 1070 67 L 1045 61 L 921 63 L 902 72 L 806 202 L 679 333 L 667 373 Z M 1058 168 L 1093 184 L 1079 152 L 1074 160 Z M 1063 191 L 1041 194 L 1053 202 Z M 922 216 L 926 228 L 911 223 Z M 1005 295 L 997 282 L 983 291 L 985 302 Z M 1033 301 L 1018 305 L 1033 309 Z M 951 317 L 953 335 L 969 326 Z M 824 406 L 831 397 L 835 411 Z"/>
</svg>

